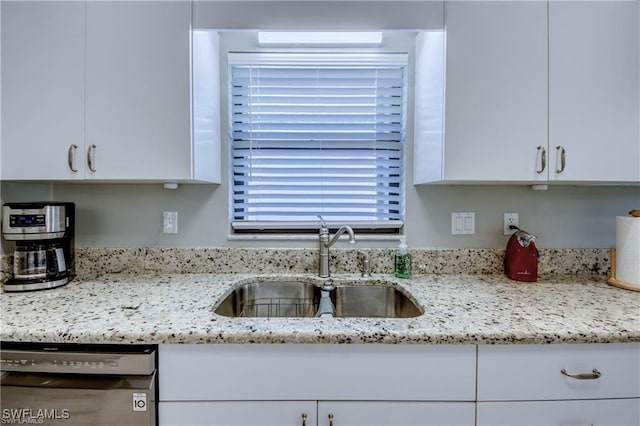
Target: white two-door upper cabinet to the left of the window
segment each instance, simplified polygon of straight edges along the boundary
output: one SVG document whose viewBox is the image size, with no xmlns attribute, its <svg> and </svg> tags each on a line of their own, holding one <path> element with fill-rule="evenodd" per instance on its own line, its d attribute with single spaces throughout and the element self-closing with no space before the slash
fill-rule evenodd
<svg viewBox="0 0 640 426">
<path fill-rule="evenodd" d="M 185 1 L 2 2 L 2 179 L 219 182 L 190 22 Z"/>
</svg>

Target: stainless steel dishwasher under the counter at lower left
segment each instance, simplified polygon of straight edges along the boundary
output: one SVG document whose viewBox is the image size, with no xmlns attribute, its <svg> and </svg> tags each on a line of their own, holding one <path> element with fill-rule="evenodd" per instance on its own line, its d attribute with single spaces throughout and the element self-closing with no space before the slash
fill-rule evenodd
<svg viewBox="0 0 640 426">
<path fill-rule="evenodd" d="M 157 347 L 2 343 L 2 424 L 157 425 Z"/>
</svg>

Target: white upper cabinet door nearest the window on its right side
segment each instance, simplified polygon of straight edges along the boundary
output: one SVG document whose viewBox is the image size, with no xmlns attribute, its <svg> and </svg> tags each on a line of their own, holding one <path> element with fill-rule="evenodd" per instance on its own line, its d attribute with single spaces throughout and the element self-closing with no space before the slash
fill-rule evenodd
<svg viewBox="0 0 640 426">
<path fill-rule="evenodd" d="M 446 7 L 444 179 L 546 180 L 546 3 Z"/>
</svg>

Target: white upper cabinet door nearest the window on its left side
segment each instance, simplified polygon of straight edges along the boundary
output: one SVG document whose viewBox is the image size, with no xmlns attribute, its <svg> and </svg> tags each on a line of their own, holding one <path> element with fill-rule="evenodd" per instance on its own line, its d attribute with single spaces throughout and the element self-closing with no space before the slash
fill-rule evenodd
<svg viewBox="0 0 640 426">
<path fill-rule="evenodd" d="M 87 3 L 87 178 L 191 177 L 190 7 Z"/>
</svg>

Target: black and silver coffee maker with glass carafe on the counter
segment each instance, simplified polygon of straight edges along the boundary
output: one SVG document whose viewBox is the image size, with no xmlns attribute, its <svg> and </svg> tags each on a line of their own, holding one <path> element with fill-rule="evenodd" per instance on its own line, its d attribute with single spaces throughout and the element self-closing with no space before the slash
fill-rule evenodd
<svg viewBox="0 0 640 426">
<path fill-rule="evenodd" d="M 75 204 L 5 203 L 2 235 L 16 242 L 13 278 L 4 291 L 56 288 L 75 276 Z"/>
</svg>

